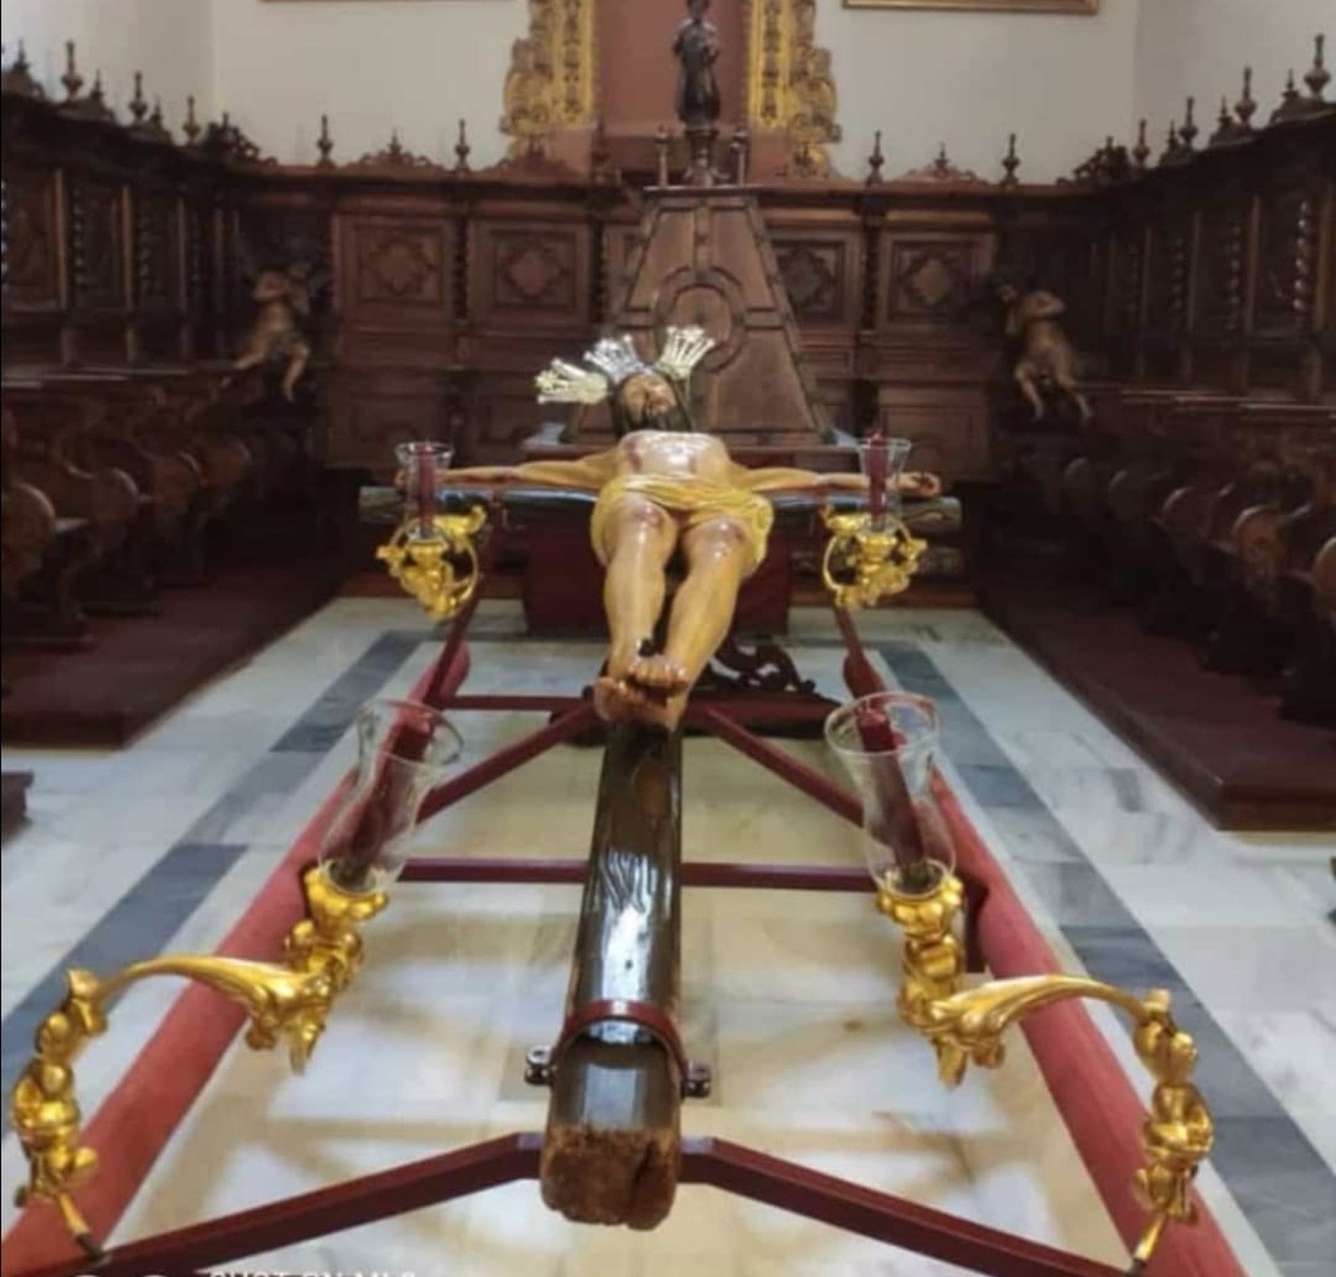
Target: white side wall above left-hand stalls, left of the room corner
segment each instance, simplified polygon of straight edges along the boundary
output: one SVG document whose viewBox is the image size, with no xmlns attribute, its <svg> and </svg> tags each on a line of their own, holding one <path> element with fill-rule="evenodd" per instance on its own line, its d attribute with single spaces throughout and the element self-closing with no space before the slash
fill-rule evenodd
<svg viewBox="0 0 1336 1277">
<path fill-rule="evenodd" d="M 186 98 L 195 95 L 202 118 L 212 110 L 211 0 L 4 0 L 5 65 L 23 40 L 32 73 L 48 94 L 63 98 L 65 40 L 75 53 L 84 92 L 102 69 L 107 102 L 122 119 L 134 96 L 134 75 L 144 73 L 144 98 L 163 102 L 166 123 L 178 131 Z"/>
</svg>

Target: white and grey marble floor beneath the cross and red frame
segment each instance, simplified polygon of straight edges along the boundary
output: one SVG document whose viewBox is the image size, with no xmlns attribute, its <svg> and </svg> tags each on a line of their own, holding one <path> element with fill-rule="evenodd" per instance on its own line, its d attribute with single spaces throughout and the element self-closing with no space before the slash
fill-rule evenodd
<svg viewBox="0 0 1336 1277">
<path fill-rule="evenodd" d="M 983 617 L 886 612 L 863 630 L 890 680 L 933 696 L 943 765 L 1070 970 L 1161 986 L 1201 1047 L 1218 1126 L 1201 1189 L 1249 1274 L 1336 1270 L 1336 838 L 1213 831 Z M 512 605 L 474 626 L 469 691 L 574 691 L 592 644 L 525 638 Z M 824 613 L 791 647 L 828 695 L 840 656 Z M 411 604 L 339 600 L 120 752 L 5 751 L 36 773 L 31 820 L 0 859 L 3 1082 L 21 1067 L 68 966 L 110 970 L 207 950 L 353 757 L 361 701 L 401 695 L 434 655 Z M 461 713 L 468 755 L 532 716 Z M 823 748 L 792 743 L 824 764 Z M 577 856 L 599 755 L 556 749 L 429 822 L 454 855 Z M 685 745 L 685 855 L 856 863 L 856 831 L 708 740 Z M 578 890 L 405 887 L 311 1069 L 235 1049 L 118 1233 L 179 1226 L 537 1129 L 528 1046 L 560 1022 Z M 894 1014 L 895 946 L 866 899 L 692 891 L 685 1038 L 719 1078 L 684 1110 L 716 1134 L 1117 1264 L 1122 1248 L 1033 1058 L 938 1087 Z M 131 991 L 80 1062 L 92 1111 L 179 986 Z M 1125 1027 L 1100 1029 L 1145 1081 Z M 795 1102 L 795 1097 L 799 1102 Z M 21 1153 L 0 1146 L 5 1228 Z M 532 1183 L 351 1230 L 247 1268 L 420 1274 L 929 1274 L 942 1264 L 740 1202 L 681 1190 L 652 1234 L 581 1229 Z"/>
</svg>

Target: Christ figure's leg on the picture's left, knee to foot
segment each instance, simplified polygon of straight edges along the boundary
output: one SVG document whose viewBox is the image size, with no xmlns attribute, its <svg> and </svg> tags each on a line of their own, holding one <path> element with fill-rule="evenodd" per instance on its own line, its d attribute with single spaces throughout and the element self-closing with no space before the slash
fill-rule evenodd
<svg viewBox="0 0 1336 1277">
<path fill-rule="evenodd" d="M 603 582 L 608 616 L 608 671 L 595 688 L 604 719 L 631 716 L 643 696 L 628 677 L 653 640 L 664 606 L 664 568 L 677 544 L 677 524 L 652 501 L 624 497 L 608 516 Z"/>
</svg>

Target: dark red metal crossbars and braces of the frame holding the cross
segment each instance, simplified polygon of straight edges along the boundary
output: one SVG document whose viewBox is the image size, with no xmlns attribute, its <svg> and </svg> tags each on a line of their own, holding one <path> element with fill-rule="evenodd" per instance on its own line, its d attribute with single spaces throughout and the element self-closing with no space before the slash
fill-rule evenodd
<svg viewBox="0 0 1336 1277">
<path fill-rule="evenodd" d="M 442 711 L 540 712 L 552 719 L 522 740 L 498 749 L 434 789 L 420 819 L 477 792 L 540 753 L 591 731 L 599 719 L 589 700 L 574 696 L 458 695 L 449 691 L 478 596 L 454 618 L 441 656 L 420 687 L 422 697 Z M 850 618 L 836 610 L 846 641 L 844 676 L 850 689 L 868 695 L 883 689 Z M 767 725 L 810 727 L 828 705 L 791 693 L 758 697 Z M 692 704 L 685 727 L 717 736 L 803 793 L 846 819 L 860 823 L 856 797 L 820 772 L 748 731 L 756 701 L 744 697 Z M 584 880 L 582 860 L 420 858 L 406 866 L 402 882 L 570 883 Z M 688 887 L 767 887 L 796 891 L 871 891 L 862 867 L 792 864 L 688 863 Z M 538 1174 L 541 1137 L 520 1133 L 470 1145 L 333 1188 L 242 1210 L 204 1224 L 162 1233 L 118 1248 L 92 1265 L 99 1277 L 170 1277 L 195 1273 L 246 1256 L 342 1232 L 484 1192 Z M 707 1183 L 847 1232 L 934 1256 L 998 1277 L 1112 1277 L 1121 1272 L 1093 1260 L 1039 1245 L 1014 1234 L 961 1220 L 850 1181 L 770 1157 L 720 1139 L 683 1141 L 681 1182 Z M 87 1258 L 31 1268 L 19 1277 L 76 1277 L 90 1270 Z"/>
</svg>

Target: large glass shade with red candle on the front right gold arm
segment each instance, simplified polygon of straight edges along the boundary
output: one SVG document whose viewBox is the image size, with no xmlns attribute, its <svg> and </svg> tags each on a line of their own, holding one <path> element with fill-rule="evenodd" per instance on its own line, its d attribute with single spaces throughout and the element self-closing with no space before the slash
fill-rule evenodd
<svg viewBox="0 0 1336 1277">
<path fill-rule="evenodd" d="M 878 890 L 929 895 L 955 868 L 955 848 L 933 796 L 937 707 L 906 692 L 876 692 L 826 720 L 863 803 L 863 854 Z"/>
</svg>

